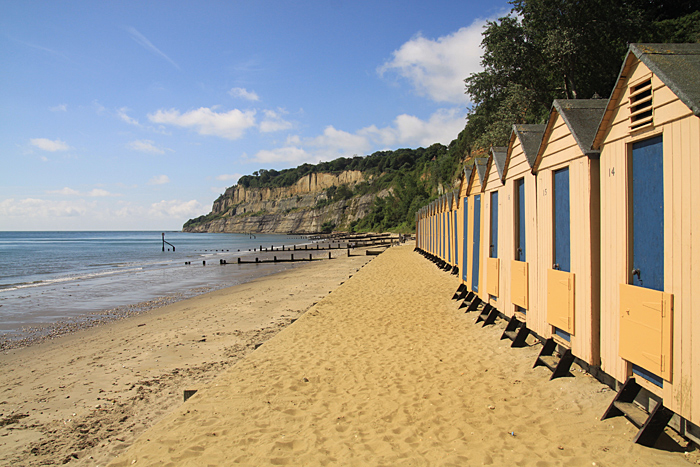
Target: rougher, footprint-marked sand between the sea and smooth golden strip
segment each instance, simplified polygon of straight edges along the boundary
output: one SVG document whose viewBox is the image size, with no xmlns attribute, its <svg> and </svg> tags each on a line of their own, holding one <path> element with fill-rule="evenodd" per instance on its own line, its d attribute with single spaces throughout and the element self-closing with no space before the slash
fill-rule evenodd
<svg viewBox="0 0 700 467">
<path fill-rule="evenodd" d="M 0 353 L 0 466 L 105 465 L 370 259 L 304 263 Z"/>
</svg>

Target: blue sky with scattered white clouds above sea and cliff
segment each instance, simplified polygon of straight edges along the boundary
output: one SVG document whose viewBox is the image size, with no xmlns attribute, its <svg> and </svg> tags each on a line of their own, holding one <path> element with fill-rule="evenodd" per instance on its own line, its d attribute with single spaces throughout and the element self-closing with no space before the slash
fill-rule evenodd
<svg viewBox="0 0 700 467">
<path fill-rule="evenodd" d="M 180 230 L 261 168 L 447 145 L 508 11 L 0 0 L 0 230 Z"/>
</svg>

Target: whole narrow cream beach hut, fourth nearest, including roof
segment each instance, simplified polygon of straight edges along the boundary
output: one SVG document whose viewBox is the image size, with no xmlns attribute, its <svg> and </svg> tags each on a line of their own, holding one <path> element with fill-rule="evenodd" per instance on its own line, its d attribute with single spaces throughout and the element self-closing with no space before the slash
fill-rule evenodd
<svg viewBox="0 0 700 467">
<path fill-rule="evenodd" d="M 506 201 L 503 194 L 503 167 L 506 162 L 506 148 L 494 148 L 489 150 L 484 175 L 484 188 L 482 195 L 482 218 L 484 238 L 481 242 L 481 256 L 483 258 L 482 274 L 484 301 L 495 308 L 503 309 L 503 284 L 501 281 L 501 269 L 503 263 L 503 204 Z"/>
</svg>

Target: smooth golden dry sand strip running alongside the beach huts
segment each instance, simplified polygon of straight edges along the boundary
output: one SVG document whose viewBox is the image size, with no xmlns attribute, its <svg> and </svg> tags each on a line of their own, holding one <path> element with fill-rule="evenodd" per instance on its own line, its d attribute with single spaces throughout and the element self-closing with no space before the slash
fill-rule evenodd
<svg viewBox="0 0 700 467">
<path fill-rule="evenodd" d="M 696 451 L 633 444 L 624 418 L 600 421 L 610 389 L 578 368 L 549 381 L 532 368 L 540 345 L 512 349 L 503 321 L 475 325 L 451 300 L 457 285 L 412 246 L 390 248 L 110 465 L 698 462 Z"/>
</svg>

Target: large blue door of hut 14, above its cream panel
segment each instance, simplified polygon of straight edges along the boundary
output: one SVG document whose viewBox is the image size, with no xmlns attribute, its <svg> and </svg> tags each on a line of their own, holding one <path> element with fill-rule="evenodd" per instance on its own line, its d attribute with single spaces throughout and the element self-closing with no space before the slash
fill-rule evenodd
<svg viewBox="0 0 700 467">
<path fill-rule="evenodd" d="M 632 284 L 664 290 L 664 165 L 661 136 L 632 145 Z"/>
</svg>

